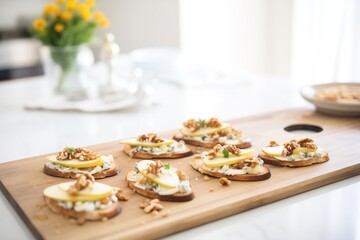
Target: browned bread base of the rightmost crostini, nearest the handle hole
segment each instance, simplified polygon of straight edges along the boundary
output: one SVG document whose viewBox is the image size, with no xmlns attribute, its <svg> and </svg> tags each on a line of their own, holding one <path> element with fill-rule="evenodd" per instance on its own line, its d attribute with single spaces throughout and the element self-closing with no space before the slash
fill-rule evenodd
<svg viewBox="0 0 360 240">
<path fill-rule="evenodd" d="M 274 157 L 266 155 L 264 152 L 259 154 L 259 157 L 267 164 L 282 166 L 282 167 L 306 167 L 317 163 L 323 163 L 329 160 L 327 152 L 323 152 L 320 157 L 313 157 L 304 160 L 282 161 Z"/>
</svg>

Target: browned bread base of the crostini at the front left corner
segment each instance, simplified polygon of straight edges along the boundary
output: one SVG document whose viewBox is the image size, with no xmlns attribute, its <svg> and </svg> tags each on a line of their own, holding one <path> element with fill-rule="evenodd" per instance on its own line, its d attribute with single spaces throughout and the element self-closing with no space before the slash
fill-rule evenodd
<svg viewBox="0 0 360 240">
<path fill-rule="evenodd" d="M 49 197 L 44 198 L 46 204 L 53 212 L 61 214 L 65 217 L 75 218 L 79 220 L 101 221 L 103 219 L 115 217 L 121 212 L 121 206 L 119 202 L 116 202 L 112 206 L 101 210 L 99 209 L 92 212 L 77 212 L 75 210 L 69 210 L 59 206 L 54 199 L 51 199 Z"/>
</svg>

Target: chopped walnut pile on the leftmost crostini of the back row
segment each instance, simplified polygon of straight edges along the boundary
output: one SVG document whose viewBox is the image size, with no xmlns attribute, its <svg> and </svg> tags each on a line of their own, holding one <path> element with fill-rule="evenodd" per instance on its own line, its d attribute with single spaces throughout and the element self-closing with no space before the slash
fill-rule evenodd
<svg viewBox="0 0 360 240">
<path fill-rule="evenodd" d="M 100 157 L 99 154 L 86 148 L 66 147 L 63 149 L 62 152 L 59 152 L 57 154 L 56 159 L 57 160 L 78 159 L 81 161 L 87 161 L 87 160 L 95 160 L 98 159 L 99 157 Z"/>
</svg>

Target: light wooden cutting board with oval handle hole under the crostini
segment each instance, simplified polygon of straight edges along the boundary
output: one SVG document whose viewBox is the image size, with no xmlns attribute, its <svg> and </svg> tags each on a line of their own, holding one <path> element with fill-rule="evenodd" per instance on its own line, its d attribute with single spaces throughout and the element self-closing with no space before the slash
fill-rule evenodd
<svg viewBox="0 0 360 240">
<path fill-rule="evenodd" d="M 121 169 L 119 175 L 99 182 L 125 189 L 130 199 L 121 202 L 123 211 L 117 217 L 105 222 L 87 222 L 82 226 L 52 213 L 44 205 L 44 188 L 69 181 L 42 173 L 45 156 L 50 154 L 1 164 L 0 186 L 37 238 L 148 239 L 176 233 L 360 174 L 359 118 L 336 118 L 310 110 L 292 109 L 228 122 L 251 137 L 257 152 L 269 140 L 284 142 L 292 138 L 311 137 L 329 152 L 330 161 L 303 168 L 269 166 L 272 177 L 268 180 L 233 181 L 230 186 L 221 187 L 217 179 L 205 181 L 200 173 L 190 167 L 188 162 L 192 157 L 169 160 L 173 166 L 190 176 L 196 197 L 185 203 L 162 202 L 164 211 L 169 213 L 167 217 L 163 217 L 145 214 L 139 208 L 144 197 L 126 187 L 125 174 L 137 160 L 122 153 L 118 141 L 91 146 L 89 148 L 101 154 L 113 154 Z M 323 131 L 290 133 L 283 130 L 284 127 L 297 123 L 315 124 L 321 126 Z M 171 137 L 174 132 L 168 131 L 161 135 Z M 194 148 L 194 151 L 198 150 Z"/>
</svg>

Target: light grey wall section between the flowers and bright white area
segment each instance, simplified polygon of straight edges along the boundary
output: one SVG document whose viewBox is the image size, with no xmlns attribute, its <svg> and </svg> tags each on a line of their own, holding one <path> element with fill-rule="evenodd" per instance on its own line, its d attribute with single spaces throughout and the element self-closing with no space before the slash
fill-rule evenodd
<svg viewBox="0 0 360 240">
<path fill-rule="evenodd" d="M 98 6 L 111 19 L 121 52 L 179 47 L 178 0 L 99 0 Z"/>
</svg>

